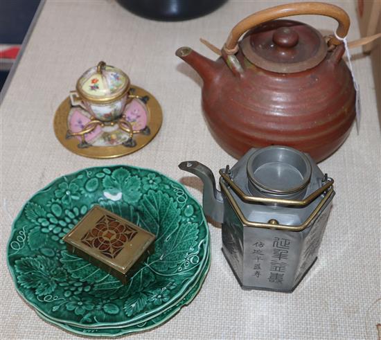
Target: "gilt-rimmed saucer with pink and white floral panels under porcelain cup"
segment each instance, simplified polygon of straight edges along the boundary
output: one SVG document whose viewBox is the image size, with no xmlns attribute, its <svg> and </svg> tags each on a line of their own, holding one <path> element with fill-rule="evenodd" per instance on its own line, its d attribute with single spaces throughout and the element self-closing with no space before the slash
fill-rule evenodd
<svg viewBox="0 0 381 340">
<path fill-rule="evenodd" d="M 84 136 L 87 147 L 80 147 L 80 136 L 69 138 L 68 130 L 80 132 L 91 121 L 91 115 L 82 107 L 72 107 L 69 98 L 55 112 L 55 136 L 71 152 L 91 158 L 115 158 L 141 149 L 159 132 L 163 116 L 159 102 L 151 93 L 134 85 L 130 91 L 141 98 L 134 98 L 123 112 L 134 130 L 142 130 L 132 137 L 133 144 L 129 142 L 129 134 L 115 123 L 104 127 L 97 125 Z"/>
</svg>

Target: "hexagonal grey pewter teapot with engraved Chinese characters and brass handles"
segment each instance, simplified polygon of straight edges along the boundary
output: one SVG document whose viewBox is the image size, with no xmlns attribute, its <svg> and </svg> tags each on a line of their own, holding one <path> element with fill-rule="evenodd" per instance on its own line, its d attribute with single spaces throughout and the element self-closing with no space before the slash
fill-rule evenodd
<svg viewBox="0 0 381 340">
<path fill-rule="evenodd" d="M 292 292 L 317 259 L 333 179 L 285 146 L 251 149 L 221 169 L 221 192 L 202 163 L 179 168 L 202 179 L 204 213 L 222 223 L 222 251 L 242 288 Z"/>
</svg>

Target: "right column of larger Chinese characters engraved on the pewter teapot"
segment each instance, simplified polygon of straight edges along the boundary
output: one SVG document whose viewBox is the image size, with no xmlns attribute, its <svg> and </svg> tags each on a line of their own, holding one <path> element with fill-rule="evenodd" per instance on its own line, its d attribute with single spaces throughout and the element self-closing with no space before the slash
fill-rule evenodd
<svg viewBox="0 0 381 340">
<path fill-rule="evenodd" d="M 291 241 L 287 238 L 274 238 L 272 242 L 272 260 L 270 263 L 270 283 L 283 283 L 283 276 L 287 267 L 288 251 Z"/>
</svg>

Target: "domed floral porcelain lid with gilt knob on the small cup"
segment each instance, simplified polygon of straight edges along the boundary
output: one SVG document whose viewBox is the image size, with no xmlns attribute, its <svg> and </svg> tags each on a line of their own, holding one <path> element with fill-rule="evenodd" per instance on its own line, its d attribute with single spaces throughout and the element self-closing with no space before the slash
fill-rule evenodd
<svg viewBox="0 0 381 340">
<path fill-rule="evenodd" d="M 99 62 L 83 73 L 77 82 L 82 98 L 94 102 L 109 102 L 125 95 L 130 89 L 130 78 L 114 66 Z"/>
</svg>

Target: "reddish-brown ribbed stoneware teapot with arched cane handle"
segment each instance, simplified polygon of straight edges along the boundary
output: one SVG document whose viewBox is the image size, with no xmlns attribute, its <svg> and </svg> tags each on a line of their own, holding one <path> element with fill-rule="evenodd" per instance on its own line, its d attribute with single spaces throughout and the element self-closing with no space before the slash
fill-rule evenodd
<svg viewBox="0 0 381 340">
<path fill-rule="evenodd" d="M 176 51 L 204 80 L 206 121 L 237 158 L 251 147 L 288 145 L 321 161 L 350 132 L 355 88 L 342 60 L 344 44 L 307 24 L 276 20 L 292 15 L 332 17 L 339 23 L 337 37 L 348 33 L 350 20 L 341 8 L 290 3 L 240 21 L 215 62 L 189 47 Z"/>
</svg>

